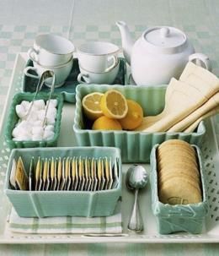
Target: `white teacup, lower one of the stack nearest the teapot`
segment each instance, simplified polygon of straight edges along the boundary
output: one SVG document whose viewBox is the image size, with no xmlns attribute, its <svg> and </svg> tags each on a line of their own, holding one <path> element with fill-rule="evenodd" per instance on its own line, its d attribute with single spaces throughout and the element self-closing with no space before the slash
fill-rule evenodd
<svg viewBox="0 0 219 256">
<path fill-rule="evenodd" d="M 91 72 L 79 66 L 80 74 L 77 75 L 77 81 L 81 84 L 113 84 L 119 72 L 120 61 L 117 59 L 115 67 L 105 72 Z"/>
</svg>

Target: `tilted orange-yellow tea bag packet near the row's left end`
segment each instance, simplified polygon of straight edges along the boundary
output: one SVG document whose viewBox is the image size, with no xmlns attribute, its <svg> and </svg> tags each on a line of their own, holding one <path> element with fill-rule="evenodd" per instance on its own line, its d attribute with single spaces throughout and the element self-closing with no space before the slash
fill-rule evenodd
<svg viewBox="0 0 219 256">
<path fill-rule="evenodd" d="M 19 157 L 19 161 L 16 166 L 15 183 L 18 185 L 20 190 L 28 190 L 29 188 L 28 177 L 21 157 Z"/>
</svg>

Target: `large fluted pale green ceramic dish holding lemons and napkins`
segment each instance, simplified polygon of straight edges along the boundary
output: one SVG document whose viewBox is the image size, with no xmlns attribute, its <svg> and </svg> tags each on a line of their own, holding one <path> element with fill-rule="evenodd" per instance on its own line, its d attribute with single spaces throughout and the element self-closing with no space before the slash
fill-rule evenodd
<svg viewBox="0 0 219 256">
<path fill-rule="evenodd" d="M 162 112 L 165 99 L 165 85 L 135 86 L 135 85 L 106 85 L 80 84 L 76 90 L 76 110 L 73 130 L 77 144 L 80 146 L 111 146 L 121 150 L 123 162 L 149 162 L 154 144 L 167 139 L 183 139 L 190 144 L 200 144 L 206 128 L 200 123 L 195 133 L 141 133 L 135 131 L 104 131 L 92 130 L 90 123 L 83 116 L 82 99 L 84 95 L 97 91 L 105 92 L 109 89 L 119 90 L 127 99 L 137 101 L 143 108 L 144 116 L 157 115 Z"/>
</svg>

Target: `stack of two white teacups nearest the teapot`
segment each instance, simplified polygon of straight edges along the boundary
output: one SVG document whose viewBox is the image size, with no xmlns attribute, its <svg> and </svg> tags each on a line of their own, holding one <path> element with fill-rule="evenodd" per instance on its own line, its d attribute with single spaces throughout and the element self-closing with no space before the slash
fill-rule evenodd
<svg viewBox="0 0 219 256">
<path fill-rule="evenodd" d="M 105 41 L 89 41 L 77 47 L 79 83 L 113 84 L 119 72 L 119 47 Z"/>
</svg>

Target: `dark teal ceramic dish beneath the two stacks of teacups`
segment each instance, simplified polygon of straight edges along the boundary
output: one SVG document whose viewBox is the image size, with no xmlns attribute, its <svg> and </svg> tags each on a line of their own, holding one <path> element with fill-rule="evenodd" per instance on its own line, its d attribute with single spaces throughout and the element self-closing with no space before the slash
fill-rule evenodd
<svg viewBox="0 0 219 256">
<path fill-rule="evenodd" d="M 33 62 L 29 59 L 26 63 L 26 67 L 33 66 Z M 77 84 L 77 75 L 80 73 L 78 66 L 78 59 L 74 58 L 72 71 L 69 74 L 66 82 L 58 88 L 55 88 L 55 93 L 61 93 L 64 96 L 64 101 L 75 103 L 75 94 Z M 120 69 L 115 78 L 114 84 L 125 84 L 125 76 L 126 76 L 126 61 L 124 58 L 120 57 Z M 35 92 L 36 85 L 38 83 L 37 79 L 29 78 L 28 76 L 23 76 L 23 90 L 24 92 Z M 41 91 L 48 92 L 50 88 L 43 85 Z"/>
</svg>

